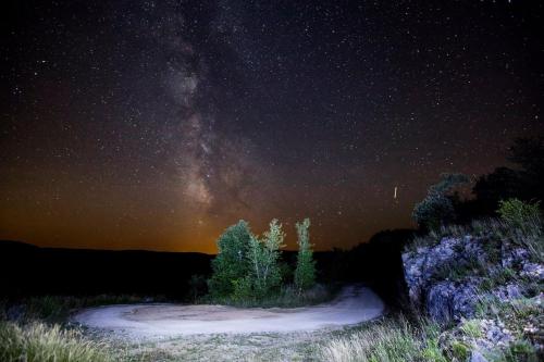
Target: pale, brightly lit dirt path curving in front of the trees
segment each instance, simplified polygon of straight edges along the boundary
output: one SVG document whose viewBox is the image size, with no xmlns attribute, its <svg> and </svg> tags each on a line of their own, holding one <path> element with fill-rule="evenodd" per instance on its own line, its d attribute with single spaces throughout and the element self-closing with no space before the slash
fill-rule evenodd
<svg viewBox="0 0 544 362">
<path fill-rule="evenodd" d="M 200 334 L 308 332 L 342 327 L 382 314 L 381 299 L 370 289 L 349 286 L 331 303 L 295 309 L 224 305 L 132 304 L 87 309 L 74 321 L 129 339 Z"/>
</svg>

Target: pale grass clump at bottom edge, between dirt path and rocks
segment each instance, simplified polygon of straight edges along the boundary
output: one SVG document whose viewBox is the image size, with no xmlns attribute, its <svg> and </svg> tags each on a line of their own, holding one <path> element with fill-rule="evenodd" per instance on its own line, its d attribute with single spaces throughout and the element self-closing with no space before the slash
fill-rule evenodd
<svg viewBox="0 0 544 362">
<path fill-rule="evenodd" d="M 416 323 L 403 316 L 383 320 L 329 341 L 322 346 L 320 358 L 332 362 L 446 362 L 440 335 L 440 326 L 426 320 Z"/>
</svg>

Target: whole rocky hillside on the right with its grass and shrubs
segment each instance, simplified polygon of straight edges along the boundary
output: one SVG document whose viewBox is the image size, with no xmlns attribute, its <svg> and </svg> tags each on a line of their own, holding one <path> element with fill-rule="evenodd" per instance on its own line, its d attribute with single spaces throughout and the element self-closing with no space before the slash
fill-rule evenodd
<svg viewBox="0 0 544 362">
<path fill-rule="evenodd" d="M 542 360 L 541 223 L 477 222 L 418 239 L 403 254 L 411 302 L 459 361 Z"/>
</svg>

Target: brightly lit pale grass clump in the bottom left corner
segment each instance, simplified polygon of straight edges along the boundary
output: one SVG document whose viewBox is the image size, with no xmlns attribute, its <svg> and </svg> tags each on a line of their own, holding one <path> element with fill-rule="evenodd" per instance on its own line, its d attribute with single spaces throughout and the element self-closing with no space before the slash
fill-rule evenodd
<svg viewBox="0 0 544 362">
<path fill-rule="evenodd" d="M 87 340 L 76 330 L 33 322 L 0 322 L 0 361 L 109 362 L 107 346 Z"/>
</svg>

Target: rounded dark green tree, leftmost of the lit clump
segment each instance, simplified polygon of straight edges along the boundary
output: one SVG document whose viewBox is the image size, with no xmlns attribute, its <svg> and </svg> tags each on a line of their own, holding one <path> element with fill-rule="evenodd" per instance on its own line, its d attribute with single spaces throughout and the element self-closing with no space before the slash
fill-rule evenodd
<svg viewBox="0 0 544 362">
<path fill-rule="evenodd" d="M 212 277 L 208 280 L 210 294 L 217 297 L 230 296 L 234 292 L 235 280 L 245 277 L 249 272 L 247 251 L 252 238 L 247 222 L 240 220 L 230 226 L 218 239 L 218 255 L 213 259 Z"/>
</svg>

